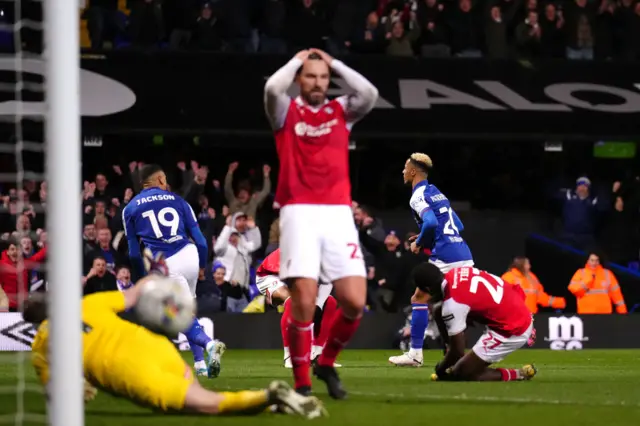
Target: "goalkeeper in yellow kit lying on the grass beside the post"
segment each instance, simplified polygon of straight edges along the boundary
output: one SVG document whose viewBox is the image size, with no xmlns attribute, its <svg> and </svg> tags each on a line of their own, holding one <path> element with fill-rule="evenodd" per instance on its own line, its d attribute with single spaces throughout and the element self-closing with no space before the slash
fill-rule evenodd
<svg viewBox="0 0 640 426">
<path fill-rule="evenodd" d="M 298 395 L 284 382 L 274 381 L 259 391 L 213 392 L 203 388 L 169 339 L 118 316 L 135 306 L 140 289 L 154 279 L 169 278 L 149 275 L 124 292 L 97 293 L 83 299 L 85 399 L 95 397 L 93 385 L 162 411 L 225 415 L 276 408 L 307 418 L 326 413 L 317 398 Z M 32 345 L 32 361 L 46 387 L 49 333 L 44 299 L 30 299 L 23 316 L 25 321 L 41 323 Z"/>
</svg>

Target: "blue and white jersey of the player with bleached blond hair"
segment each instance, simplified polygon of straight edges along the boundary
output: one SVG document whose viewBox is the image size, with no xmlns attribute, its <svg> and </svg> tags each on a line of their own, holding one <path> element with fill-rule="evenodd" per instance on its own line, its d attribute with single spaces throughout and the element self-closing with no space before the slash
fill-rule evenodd
<svg viewBox="0 0 640 426">
<path fill-rule="evenodd" d="M 433 237 L 431 247 L 431 259 L 444 263 L 462 262 L 473 260 L 469 246 L 460 236 L 460 230 L 456 225 L 456 217 L 449 199 L 434 185 L 424 180 L 413 188 L 411 194 L 411 211 L 418 224 L 422 228 L 422 214 L 431 209 L 438 220 L 438 227 Z"/>
</svg>

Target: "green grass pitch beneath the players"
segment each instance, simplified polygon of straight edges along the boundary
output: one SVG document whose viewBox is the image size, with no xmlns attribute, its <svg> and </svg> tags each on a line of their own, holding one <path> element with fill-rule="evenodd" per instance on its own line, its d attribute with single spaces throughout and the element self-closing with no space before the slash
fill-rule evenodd
<svg viewBox="0 0 640 426">
<path fill-rule="evenodd" d="M 640 423 L 640 351 L 534 351 L 512 355 L 507 366 L 534 362 L 538 376 L 517 383 L 435 383 L 429 381 L 440 353 L 427 353 L 421 369 L 387 364 L 394 351 L 349 351 L 340 358 L 340 370 L 350 391 L 346 401 L 332 401 L 322 383 L 314 390 L 325 401 L 328 419 L 317 425 L 563 425 L 614 426 Z M 15 355 L 0 358 L 0 417 L 16 411 L 18 365 Z M 9 362 L 13 360 L 13 363 Z M 273 379 L 290 381 L 282 367 L 280 351 L 234 351 L 225 354 L 220 378 L 202 380 L 219 390 L 260 388 Z M 34 374 L 26 368 L 28 388 L 37 389 Z M 29 413 L 44 414 L 41 395 L 25 393 Z M 6 419 L 6 417 L 5 417 Z M 87 425 L 204 426 L 278 425 L 302 421 L 296 417 L 261 415 L 255 418 L 206 418 L 152 413 L 104 393 L 87 404 Z M 38 424 L 27 419 L 23 424 Z"/>
</svg>

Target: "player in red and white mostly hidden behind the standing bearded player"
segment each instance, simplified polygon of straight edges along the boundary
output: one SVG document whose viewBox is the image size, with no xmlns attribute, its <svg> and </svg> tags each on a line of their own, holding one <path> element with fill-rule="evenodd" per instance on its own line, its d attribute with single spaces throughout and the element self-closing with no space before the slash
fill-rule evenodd
<svg viewBox="0 0 640 426">
<path fill-rule="evenodd" d="M 287 285 L 280 281 L 278 274 L 280 273 L 280 249 L 264 259 L 262 264 L 256 271 L 256 285 L 260 293 L 262 293 L 267 303 L 272 306 L 284 304 L 284 311 L 280 319 L 280 331 L 282 332 L 282 343 L 284 345 L 284 366 L 285 368 L 293 368 L 291 363 L 291 355 L 289 352 L 289 336 L 288 328 L 291 317 L 291 303 L 289 298 L 291 294 Z M 333 321 L 333 317 L 338 309 L 338 302 L 331 296 L 333 285 L 319 281 L 318 296 L 316 297 L 316 314 L 313 319 L 314 323 L 314 342 L 311 349 L 311 360 L 315 360 L 322 353 L 322 348 L 327 342 L 329 335 L 329 327 Z M 333 364 L 334 367 L 341 367 L 340 364 Z"/>
</svg>

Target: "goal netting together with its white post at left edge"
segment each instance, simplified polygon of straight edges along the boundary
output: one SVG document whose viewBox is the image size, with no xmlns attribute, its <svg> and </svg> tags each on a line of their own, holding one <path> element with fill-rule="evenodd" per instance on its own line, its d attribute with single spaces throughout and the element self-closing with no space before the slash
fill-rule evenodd
<svg viewBox="0 0 640 426">
<path fill-rule="evenodd" d="M 77 0 L 0 0 L 0 424 L 84 424 L 78 16 Z M 45 398 L 18 311 L 48 289 Z"/>
</svg>

